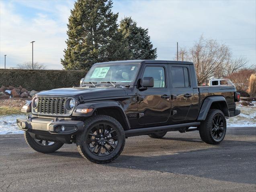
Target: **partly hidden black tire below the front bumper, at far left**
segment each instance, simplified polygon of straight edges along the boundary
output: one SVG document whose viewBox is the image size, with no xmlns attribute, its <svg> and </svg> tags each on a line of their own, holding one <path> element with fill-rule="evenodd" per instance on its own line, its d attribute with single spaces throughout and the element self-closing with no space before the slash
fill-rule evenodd
<svg viewBox="0 0 256 192">
<path fill-rule="evenodd" d="M 31 137 L 31 135 L 27 131 L 25 131 L 24 137 L 25 137 L 27 144 L 31 148 L 33 148 L 33 150 L 40 152 L 40 153 L 52 153 L 52 152 L 57 151 L 59 148 L 61 148 L 63 146 L 63 143 L 60 143 L 60 142 L 55 142 L 51 146 L 41 146 L 41 145 L 37 144 L 37 142 Z"/>
</svg>

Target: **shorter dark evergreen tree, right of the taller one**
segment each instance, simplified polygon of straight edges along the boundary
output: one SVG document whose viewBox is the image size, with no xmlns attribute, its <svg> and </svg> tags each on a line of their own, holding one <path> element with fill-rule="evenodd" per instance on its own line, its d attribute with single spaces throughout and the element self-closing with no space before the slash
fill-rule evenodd
<svg viewBox="0 0 256 192">
<path fill-rule="evenodd" d="M 156 59 L 157 49 L 153 49 L 148 29 L 138 27 L 131 17 L 125 17 L 120 22 L 119 31 L 123 35 L 122 44 L 125 50 L 129 51 L 129 54 L 124 56 L 125 60 Z"/>
</svg>

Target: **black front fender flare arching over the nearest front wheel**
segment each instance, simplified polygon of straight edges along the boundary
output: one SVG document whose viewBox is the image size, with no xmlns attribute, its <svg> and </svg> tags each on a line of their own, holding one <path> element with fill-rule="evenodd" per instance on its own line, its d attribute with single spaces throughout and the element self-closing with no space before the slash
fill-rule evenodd
<svg viewBox="0 0 256 192">
<path fill-rule="evenodd" d="M 86 114 L 84 113 L 78 113 L 76 112 L 76 109 L 90 109 L 93 108 L 92 112 L 88 112 Z M 117 101 L 95 101 L 95 102 L 86 102 L 83 104 L 78 104 L 76 106 L 76 109 L 74 110 L 72 116 L 85 116 L 89 117 L 92 116 L 92 114 L 97 110 L 97 109 L 102 109 L 102 108 L 116 108 L 119 110 L 120 115 L 122 116 L 126 126 L 128 129 L 131 128 L 130 122 L 125 114 L 125 111 L 123 109 L 123 106 L 121 105 L 120 102 Z"/>
</svg>

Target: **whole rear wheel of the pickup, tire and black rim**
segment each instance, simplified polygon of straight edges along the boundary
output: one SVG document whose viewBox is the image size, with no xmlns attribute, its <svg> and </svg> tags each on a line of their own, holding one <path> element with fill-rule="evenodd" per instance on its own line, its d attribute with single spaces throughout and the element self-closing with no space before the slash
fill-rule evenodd
<svg viewBox="0 0 256 192">
<path fill-rule="evenodd" d="M 199 126 L 201 139 L 212 145 L 217 145 L 224 139 L 226 130 L 226 118 L 219 109 L 210 109 L 205 121 Z"/>
</svg>

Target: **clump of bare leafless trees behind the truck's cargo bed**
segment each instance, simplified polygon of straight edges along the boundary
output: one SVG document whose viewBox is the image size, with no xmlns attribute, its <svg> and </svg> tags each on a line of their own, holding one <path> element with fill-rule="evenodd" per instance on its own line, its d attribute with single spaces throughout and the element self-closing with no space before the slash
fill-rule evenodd
<svg viewBox="0 0 256 192">
<path fill-rule="evenodd" d="M 181 48 L 178 54 L 179 60 L 182 60 L 182 52 L 184 61 L 195 64 L 199 85 L 213 77 L 228 77 L 248 63 L 248 59 L 242 56 L 232 58 L 231 51 L 225 44 L 219 44 L 214 39 L 205 39 L 203 36 L 192 48 Z"/>
</svg>

